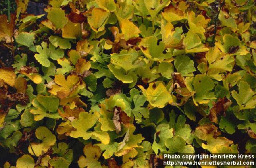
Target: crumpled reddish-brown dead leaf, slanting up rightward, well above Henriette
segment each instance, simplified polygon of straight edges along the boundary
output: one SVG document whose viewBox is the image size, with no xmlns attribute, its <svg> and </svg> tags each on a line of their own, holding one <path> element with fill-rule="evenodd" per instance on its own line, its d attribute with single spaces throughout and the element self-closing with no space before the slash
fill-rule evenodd
<svg viewBox="0 0 256 168">
<path fill-rule="evenodd" d="M 228 98 L 218 98 L 217 102 L 210 109 L 209 119 L 218 124 L 218 115 L 223 115 L 226 109 L 232 104 L 231 100 Z"/>
</svg>

